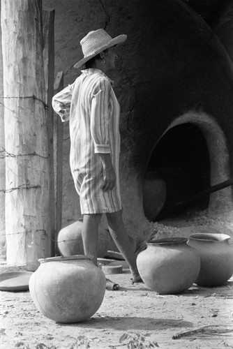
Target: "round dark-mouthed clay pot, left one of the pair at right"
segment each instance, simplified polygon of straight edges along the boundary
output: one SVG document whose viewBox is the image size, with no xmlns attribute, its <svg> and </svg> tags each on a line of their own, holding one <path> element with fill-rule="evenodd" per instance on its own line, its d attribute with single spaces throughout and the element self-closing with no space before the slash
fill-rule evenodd
<svg viewBox="0 0 233 349">
<path fill-rule="evenodd" d="M 137 256 L 137 268 L 144 283 L 161 295 L 188 290 L 200 271 L 200 255 L 186 238 L 173 237 L 147 243 Z"/>
</svg>

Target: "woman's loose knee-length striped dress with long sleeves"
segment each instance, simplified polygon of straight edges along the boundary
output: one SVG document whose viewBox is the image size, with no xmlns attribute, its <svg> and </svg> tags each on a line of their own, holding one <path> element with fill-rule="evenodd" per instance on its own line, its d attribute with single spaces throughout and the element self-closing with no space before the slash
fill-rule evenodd
<svg viewBox="0 0 233 349">
<path fill-rule="evenodd" d="M 82 70 L 73 84 L 52 98 L 52 106 L 62 121 L 70 121 L 70 170 L 82 214 L 119 211 L 120 107 L 112 81 L 99 69 Z M 112 191 L 101 188 L 100 153 L 112 158 L 117 177 Z"/>
</svg>

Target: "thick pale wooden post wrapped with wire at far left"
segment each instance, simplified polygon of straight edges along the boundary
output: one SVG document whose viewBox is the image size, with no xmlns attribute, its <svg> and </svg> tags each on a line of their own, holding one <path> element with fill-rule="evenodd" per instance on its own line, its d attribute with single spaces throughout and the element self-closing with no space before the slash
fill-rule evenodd
<svg viewBox="0 0 233 349">
<path fill-rule="evenodd" d="M 51 251 L 41 17 L 41 0 L 1 0 L 8 265 L 26 263 L 32 232 Z"/>
</svg>

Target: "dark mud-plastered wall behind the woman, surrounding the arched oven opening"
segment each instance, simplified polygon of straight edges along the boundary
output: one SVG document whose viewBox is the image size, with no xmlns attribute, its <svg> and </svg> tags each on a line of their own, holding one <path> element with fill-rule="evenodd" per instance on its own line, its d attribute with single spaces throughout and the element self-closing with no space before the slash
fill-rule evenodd
<svg viewBox="0 0 233 349">
<path fill-rule="evenodd" d="M 176 117 L 209 114 L 227 139 L 232 158 L 232 63 L 207 24 L 179 0 L 44 0 L 55 8 L 55 73 L 64 84 L 79 74 L 80 39 L 103 27 L 128 34 L 111 78 L 121 104 L 121 191 L 130 235 L 146 230 L 142 180 L 151 151 Z M 79 218 L 70 176 L 68 124 L 64 125 L 63 226 Z M 185 144 L 184 144 L 185 146 Z M 231 162 L 232 168 L 232 162 Z"/>
</svg>

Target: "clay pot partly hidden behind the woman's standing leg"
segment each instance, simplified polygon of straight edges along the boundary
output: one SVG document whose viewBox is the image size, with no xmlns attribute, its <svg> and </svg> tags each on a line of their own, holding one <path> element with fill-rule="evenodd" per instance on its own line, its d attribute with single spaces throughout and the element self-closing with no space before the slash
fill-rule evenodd
<svg viewBox="0 0 233 349">
<path fill-rule="evenodd" d="M 82 221 L 76 221 L 59 231 L 57 246 L 61 255 L 84 255 L 82 244 Z M 98 258 L 104 258 L 110 246 L 110 233 L 100 227 L 98 230 Z"/>
</svg>

